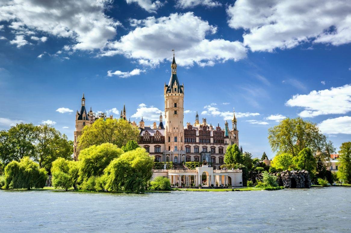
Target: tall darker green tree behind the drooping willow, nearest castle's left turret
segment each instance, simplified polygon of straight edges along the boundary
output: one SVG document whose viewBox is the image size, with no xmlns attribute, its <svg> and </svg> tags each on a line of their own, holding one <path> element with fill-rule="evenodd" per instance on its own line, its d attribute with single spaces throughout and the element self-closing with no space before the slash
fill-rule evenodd
<svg viewBox="0 0 351 233">
<path fill-rule="evenodd" d="M 37 126 L 35 132 L 34 161 L 38 162 L 40 167 L 44 167 L 49 172 L 55 159 L 72 159 L 73 141 L 68 141 L 65 134 L 62 135 L 60 131 L 48 124 Z"/>
</svg>

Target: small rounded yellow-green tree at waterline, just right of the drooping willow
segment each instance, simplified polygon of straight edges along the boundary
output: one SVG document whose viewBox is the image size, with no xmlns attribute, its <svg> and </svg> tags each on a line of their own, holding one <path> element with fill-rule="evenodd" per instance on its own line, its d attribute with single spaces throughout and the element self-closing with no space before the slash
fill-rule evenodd
<svg viewBox="0 0 351 233">
<path fill-rule="evenodd" d="M 77 183 L 78 162 L 58 158 L 51 167 L 52 185 L 62 187 L 66 191 Z"/>
</svg>

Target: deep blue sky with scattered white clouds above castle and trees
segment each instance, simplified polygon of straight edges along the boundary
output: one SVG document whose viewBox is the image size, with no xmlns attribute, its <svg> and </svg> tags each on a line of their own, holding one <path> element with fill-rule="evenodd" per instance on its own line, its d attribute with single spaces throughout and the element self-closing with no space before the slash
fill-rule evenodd
<svg viewBox="0 0 351 233">
<path fill-rule="evenodd" d="M 271 151 L 286 117 L 351 141 L 350 0 L 0 0 L 0 130 L 49 123 L 73 139 L 86 107 L 145 125 L 164 112 L 175 50 L 184 122 L 232 111 L 239 145 Z"/>
</svg>

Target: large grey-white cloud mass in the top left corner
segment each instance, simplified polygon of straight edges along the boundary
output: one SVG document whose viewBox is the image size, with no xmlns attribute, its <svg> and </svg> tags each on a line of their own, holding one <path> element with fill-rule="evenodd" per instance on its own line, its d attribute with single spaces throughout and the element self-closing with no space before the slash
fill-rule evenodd
<svg viewBox="0 0 351 233">
<path fill-rule="evenodd" d="M 102 48 L 116 35 L 120 24 L 105 15 L 110 0 L 2 1 L 0 21 L 10 22 L 13 33 L 50 35 L 73 39 L 73 49 Z M 30 29 L 30 30 L 28 30 Z M 45 42 L 47 37 L 40 38 Z"/>
</svg>

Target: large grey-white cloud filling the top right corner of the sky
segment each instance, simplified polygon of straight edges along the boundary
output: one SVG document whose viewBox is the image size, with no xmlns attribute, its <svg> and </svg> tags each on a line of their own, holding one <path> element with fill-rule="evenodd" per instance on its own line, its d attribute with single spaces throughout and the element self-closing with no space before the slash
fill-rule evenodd
<svg viewBox="0 0 351 233">
<path fill-rule="evenodd" d="M 244 44 L 252 51 L 351 42 L 351 1 L 237 0 L 227 14 L 230 27 L 246 30 Z"/>
</svg>

